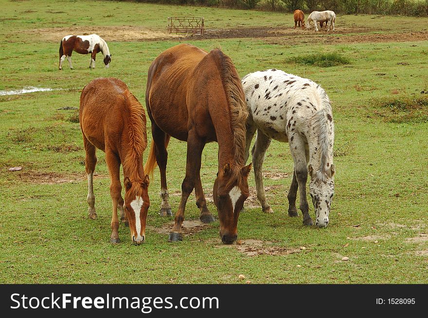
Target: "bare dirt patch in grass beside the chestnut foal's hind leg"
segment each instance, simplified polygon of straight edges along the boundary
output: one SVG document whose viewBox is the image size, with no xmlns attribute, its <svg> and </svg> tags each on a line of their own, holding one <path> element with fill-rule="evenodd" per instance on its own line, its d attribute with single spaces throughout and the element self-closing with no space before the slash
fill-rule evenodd
<svg viewBox="0 0 428 318">
<path fill-rule="evenodd" d="M 62 174 L 56 172 L 40 172 L 40 171 L 21 171 L 14 172 L 16 177 L 27 184 L 64 184 L 64 183 L 77 183 L 87 179 L 86 173 L 71 173 Z M 97 175 L 96 177 L 108 177 Z"/>
</svg>

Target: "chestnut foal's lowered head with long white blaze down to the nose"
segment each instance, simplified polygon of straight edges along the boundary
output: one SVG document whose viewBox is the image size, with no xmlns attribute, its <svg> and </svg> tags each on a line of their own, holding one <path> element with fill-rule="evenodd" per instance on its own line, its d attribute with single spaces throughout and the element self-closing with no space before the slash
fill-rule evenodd
<svg viewBox="0 0 428 318">
<path fill-rule="evenodd" d="M 125 177 L 125 216 L 129 222 L 131 238 L 134 244 L 140 245 L 145 239 L 145 221 L 150 200 L 147 193 L 148 176 L 142 182 L 132 181 Z"/>
</svg>

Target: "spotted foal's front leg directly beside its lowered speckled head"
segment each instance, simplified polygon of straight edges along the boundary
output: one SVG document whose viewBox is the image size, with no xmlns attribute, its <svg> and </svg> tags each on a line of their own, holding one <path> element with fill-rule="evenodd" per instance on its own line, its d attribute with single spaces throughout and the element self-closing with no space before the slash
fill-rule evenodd
<svg viewBox="0 0 428 318">
<path fill-rule="evenodd" d="M 293 134 L 289 139 L 289 144 L 291 155 L 294 160 L 294 173 L 296 174 L 297 183 L 299 185 L 300 209 L 303 214 L 303 224 L 313 225 L 314 223 L 309 216 L 309 205 L 306 199 L 306 182 L 308 171 L 305 143 L 299 134 Z"/>
</svg>

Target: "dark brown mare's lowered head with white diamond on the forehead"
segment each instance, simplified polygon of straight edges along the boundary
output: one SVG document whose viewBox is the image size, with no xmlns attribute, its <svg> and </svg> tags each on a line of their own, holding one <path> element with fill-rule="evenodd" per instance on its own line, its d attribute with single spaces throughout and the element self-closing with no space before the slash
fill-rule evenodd
<svg viewBox="0 0 428 318">
<path fill-rule="evenodd" d="M 217 172 L 213 197 L 220 220 L 220 237 L 224 244 L 232 244 L 238 237 L 238 217 L 244 201 L 250 195 L 248 175 L 251 164 L 242 168 L 226 164 Z"/>
</svg>

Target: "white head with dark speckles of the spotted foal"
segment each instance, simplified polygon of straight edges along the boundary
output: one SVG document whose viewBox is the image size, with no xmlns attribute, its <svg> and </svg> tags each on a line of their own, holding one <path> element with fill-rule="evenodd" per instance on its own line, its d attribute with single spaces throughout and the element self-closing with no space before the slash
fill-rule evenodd
<svg viewBox="0 0 428 318">
<path fill-rule="evenodd" d="M 325 172 L 321 173 L 314 171 L 312 165 L 309 165 L 308 174 L 311 178 L 309 193 L 314 203 L 315 216 L 317 217 L 315 225 L 325 228 L 328 224 L 328 216 L 334 196 L 335 166 L 331 164 Z"/>
</svg>

